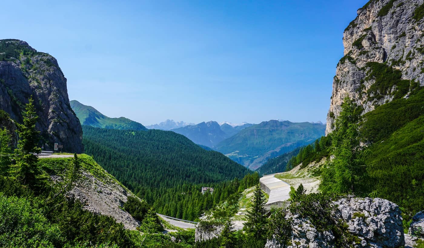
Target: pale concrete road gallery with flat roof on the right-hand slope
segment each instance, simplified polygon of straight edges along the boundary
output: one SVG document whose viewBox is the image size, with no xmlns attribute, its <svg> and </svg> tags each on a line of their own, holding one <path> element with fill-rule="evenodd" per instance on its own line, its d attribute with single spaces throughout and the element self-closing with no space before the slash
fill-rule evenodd
<svg viewBox="0 0 424 248">
<path fill-rule="evenodd" d="M 266 175 L 259 179 L 262 189 L 269 195 L 265 205 L 279 201 L 287 201 L 287 199 L 290 198 L 290 185 L 276 178 L 275 175 L 276 174 Z"/>
</svg>

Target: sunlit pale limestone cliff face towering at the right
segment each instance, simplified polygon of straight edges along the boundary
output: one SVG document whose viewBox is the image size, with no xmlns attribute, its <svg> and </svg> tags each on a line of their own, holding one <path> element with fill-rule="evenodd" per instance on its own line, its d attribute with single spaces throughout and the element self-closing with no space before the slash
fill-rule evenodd
<svg viewBox="0 0 424 248">
<path fill-rule="evenodd" d="M 424 0 L 371 0 L 343 33 L 344 57 L 333 80 L 326 134 L 345 96 L 364 109 L 424 85 Z"/>
</svg>

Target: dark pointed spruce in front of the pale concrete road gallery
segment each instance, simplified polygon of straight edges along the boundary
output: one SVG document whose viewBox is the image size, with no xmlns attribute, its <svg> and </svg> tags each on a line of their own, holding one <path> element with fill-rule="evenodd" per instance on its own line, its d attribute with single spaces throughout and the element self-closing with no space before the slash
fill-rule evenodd
<svg viewBox="0 0 424 248">
<path fill-rule="evenodd" d="M 267 212 L 264 205 L 264 193 L 259 184 L 257 184 L 253 193 L 252 209 L 248 211 L 247 222 L 244 224 L 243 229 L 249 236 L 258 240 L 266 239 Z"/>
</svg>

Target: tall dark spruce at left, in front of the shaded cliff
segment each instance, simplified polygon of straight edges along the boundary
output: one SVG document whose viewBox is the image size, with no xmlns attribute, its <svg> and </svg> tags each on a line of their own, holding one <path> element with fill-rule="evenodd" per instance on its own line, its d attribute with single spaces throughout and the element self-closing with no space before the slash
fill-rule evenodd
<svg viewBox="0 0 424 248">
<path fill-rule="evenodd" d="M 34 154 L 41 152 L 41 148 L 38 147 L 40 132 L 35 128 L 38 116 L 33 102 L 31 96 L 22 112 L 23 124 L 17 124 L 19 141 L 15 153 L 17 164 L 20 165 L 18 178 L 23 184 L 30 184 L 35 180 L 38 158 Z"/>
</svg>

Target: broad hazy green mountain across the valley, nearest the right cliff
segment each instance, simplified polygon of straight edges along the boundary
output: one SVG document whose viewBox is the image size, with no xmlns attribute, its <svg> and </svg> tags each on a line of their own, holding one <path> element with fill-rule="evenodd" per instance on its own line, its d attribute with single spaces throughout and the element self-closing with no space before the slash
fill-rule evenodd
<svg viewBox="0 0 424 248">
<path fill-rule="evenodd" d="M 248 168 L 259 168 L 269 158 L 290 152 L 324 135 L 323 124 L 263 121 L 221 141 L 215 149 Z"/>
</svg>

